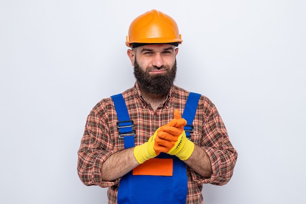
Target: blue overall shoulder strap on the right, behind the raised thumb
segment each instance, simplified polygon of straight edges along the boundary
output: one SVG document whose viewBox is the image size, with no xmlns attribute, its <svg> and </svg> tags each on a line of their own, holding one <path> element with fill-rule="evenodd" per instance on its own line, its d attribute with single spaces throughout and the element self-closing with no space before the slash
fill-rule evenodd
<svg viewBox="0 0 306 204">
<path fill-rule="evenodd" d="M 185 118 L 187 125 L 184 127 L 186 137 L 190 140 L 190 133 L 194 132 L 194 126 L 192 125 L 196 112 L 197 104 L 201 97 L 201 94 L 190 92 L 186 101 L 185 109 L 182 118 Z"/>
</svg>

